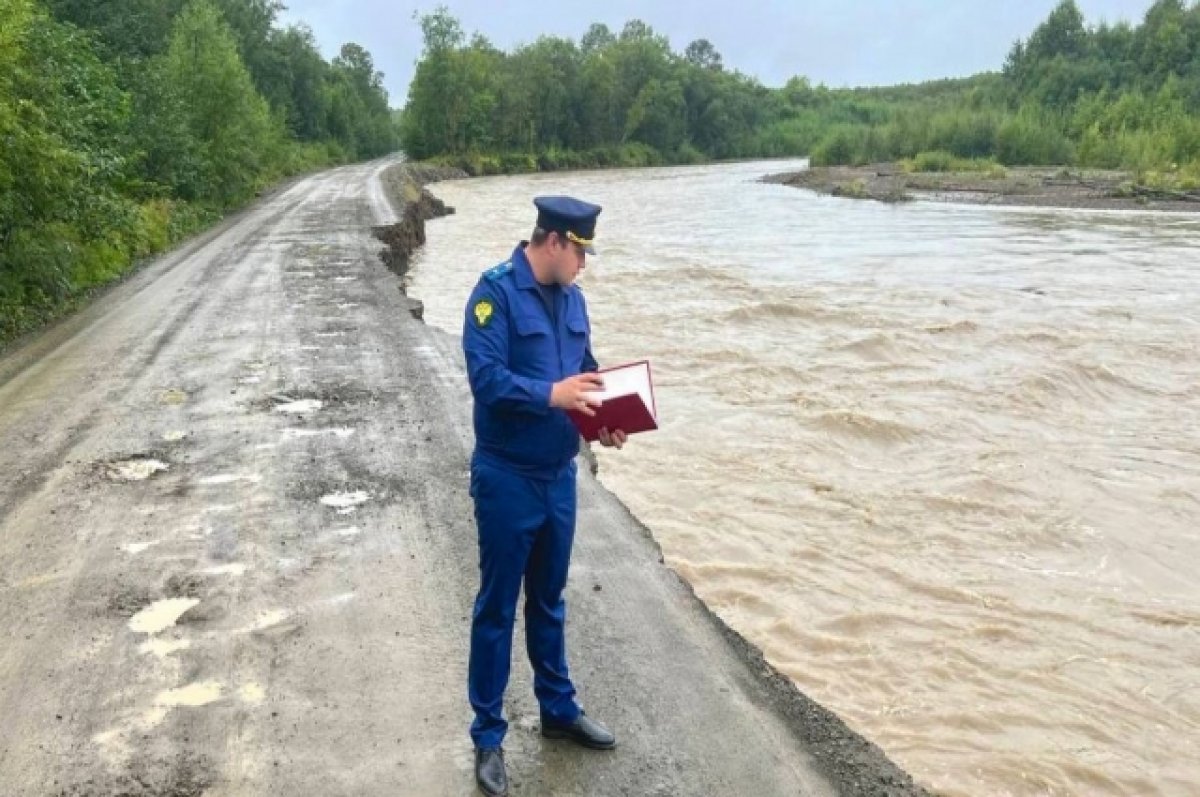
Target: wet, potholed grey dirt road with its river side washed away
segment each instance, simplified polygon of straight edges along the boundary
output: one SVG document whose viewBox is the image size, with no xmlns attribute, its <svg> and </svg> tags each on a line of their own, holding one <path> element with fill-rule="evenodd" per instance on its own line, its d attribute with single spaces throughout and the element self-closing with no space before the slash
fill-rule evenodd
<svg viewBox="0 0 1200 797">
<path fill-rule="evenodd" d="M 384 166 L 0 359 L 0 793 L 473 793 L 469 394 L 378 259 Z M 541 741 L 518 643 L 515 795 L 916 791 L 580 502 L 572 673 L 620 748 Z"/>
</svg>

